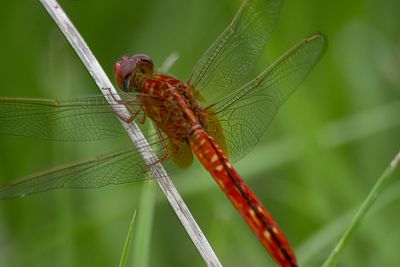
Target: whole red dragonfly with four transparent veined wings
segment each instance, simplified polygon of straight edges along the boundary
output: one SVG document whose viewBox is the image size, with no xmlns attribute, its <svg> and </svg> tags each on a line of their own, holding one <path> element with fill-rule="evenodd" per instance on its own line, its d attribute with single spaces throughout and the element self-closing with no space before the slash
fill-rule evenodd
<svg viewBox="0 0 400 267">
<path fill-rule="evenodd" d="M 267 130 L 279 107 L 323 55 L 326 39 L 301 40 L 259 76 L 246 82 L 261 56 L 282 5 L 246 0 L 231 24 L 195 65 L 187 82 L 157 73 L 143 54 L 114 65 L 126 122 L 152 122 L 150 143 L 160 162 L 185 168 L 194 156 L 211 174 L 280 266 L 298 266 L 295 253 L 272 215 L 231 165 Z M 0 98 L 0 133 L 53 141 L 89 141 L 124 133 L 102 96 L 72 100 Z M 169 162 L 169 163 L 168 163 Z M 126 148 L 55 168 L 0 188 L 0 199 L 58 188 L 98 188 L 149 178 L 137 150 Z"/>
</svg>

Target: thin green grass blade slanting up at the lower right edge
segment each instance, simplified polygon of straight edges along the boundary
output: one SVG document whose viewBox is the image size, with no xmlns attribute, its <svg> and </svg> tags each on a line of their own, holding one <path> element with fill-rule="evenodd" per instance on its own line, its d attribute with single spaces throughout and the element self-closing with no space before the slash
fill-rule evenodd
<svg viewBox="0 0 400 267">
<path fill-rule="evenodd" d="M 349 243 L 352 235 L 354 234 L 355 230 L 359 227 L 360 223 L 364 219 L 365 215 L 367 214 L 371 206 L 375 203 L 378 196 L 382 193 L 383 189 L 385 188 L 386 182 L 390 179 L 393 172 L 398 167 L 399 163 L 400 163 L 400 153 L 397 154 L 397 156 L 392 160 L 390 165 L 386 168 L 381 177 L 378 179 L 378 182 L 372 188 L 371 192 L 361 205 L 361 208 L 358 210 L 357 214 L 353 218 L 350 227 L 345 231 L 342 238 L 337 243 L 336 247 L 332 250 L 328 259 L 323 264 L 323 267 L 336 266 L 336 262 L 338 261 L 340 254 L 343 252 L 344 248 Z"/>
</svg>

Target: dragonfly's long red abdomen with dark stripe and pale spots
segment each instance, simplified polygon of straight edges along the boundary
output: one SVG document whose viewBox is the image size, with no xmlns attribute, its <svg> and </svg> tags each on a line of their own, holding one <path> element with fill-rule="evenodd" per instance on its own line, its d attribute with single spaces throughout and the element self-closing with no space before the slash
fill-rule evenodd
<svg viewBox="0 0 400 267">
<path fill-rule="evenodd" d="M 297 266 L 296 256 L 283 232 L 228 162 L 216 141 L 200 128 L 192 133 L 189 144 L 275 261 L 280 266 Z"/>
</svg>

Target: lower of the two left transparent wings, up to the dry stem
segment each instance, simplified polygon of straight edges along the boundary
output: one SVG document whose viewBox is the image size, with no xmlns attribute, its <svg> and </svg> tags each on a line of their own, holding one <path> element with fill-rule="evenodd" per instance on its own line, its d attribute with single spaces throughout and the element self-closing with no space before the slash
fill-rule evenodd
<svg viewBox="0 0 400 267">
<path fill-rule="evenodd" d="M 0 199 L 58 188 L 98 188 L 149 178 L 147 168 L 134 149 L 125 149 L 94 159 L 70 164 L 33 175 L 0 187 Z"/>
</svg>

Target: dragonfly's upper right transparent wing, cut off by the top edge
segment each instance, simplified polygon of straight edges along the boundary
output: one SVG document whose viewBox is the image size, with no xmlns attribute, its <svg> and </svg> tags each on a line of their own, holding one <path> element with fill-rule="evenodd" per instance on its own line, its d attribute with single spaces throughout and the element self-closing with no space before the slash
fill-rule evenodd
<svg viewBox="0 0 400 267">
<path fill-rule="evenodd" d="M 206 104 L 237 89 L 251 71 L 277 21 L 281 0 L 246 0 L 229 27 L 205 52 L 189 79 Z"/>
</svg>

